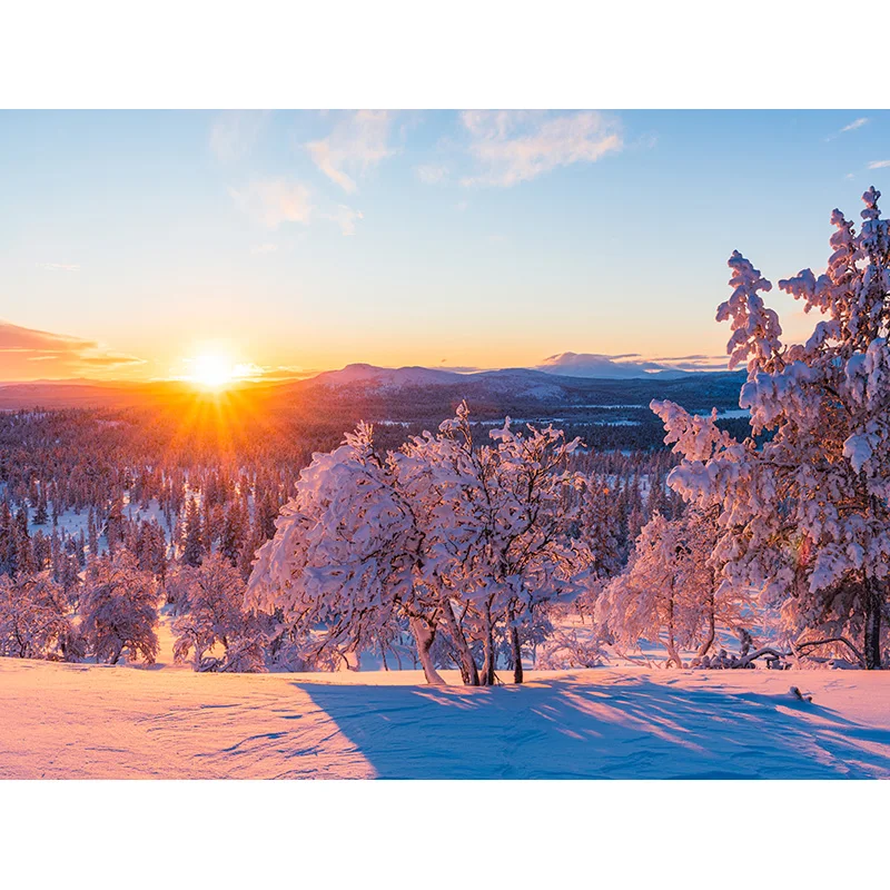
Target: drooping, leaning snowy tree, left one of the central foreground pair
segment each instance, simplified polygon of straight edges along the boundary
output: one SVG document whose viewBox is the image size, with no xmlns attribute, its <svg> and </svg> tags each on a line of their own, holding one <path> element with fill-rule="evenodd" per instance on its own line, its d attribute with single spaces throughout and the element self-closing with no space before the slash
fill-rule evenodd
<svg viewBox="0 0 890 890">
<path fill-rule="evenodd" d="M 377 647 L 404 619 L 427 681 L 442 683 L 429 654 L 436 610 L 415 583 L 423 535 L 395 459 L 374 451 L 369 426 L 313 456 L 275 524 L 250 576 L 249 605 L 281 610 L 291 632 L 307 640 L 324 629 L 315 657 Z"/>
</svg>

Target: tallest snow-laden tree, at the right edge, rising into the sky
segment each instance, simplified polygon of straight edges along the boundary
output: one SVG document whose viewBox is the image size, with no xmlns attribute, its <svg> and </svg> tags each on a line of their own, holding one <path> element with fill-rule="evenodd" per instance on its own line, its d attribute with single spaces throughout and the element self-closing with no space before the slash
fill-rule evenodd
<svg viewBox="0 0 890 890">
<path fill-rule="evenodd" d="M 881 665 L 890 587 L 890 230 L 879 197 L 862 196 L 858 233 L 834 210 L 823 274 L 779 281 L 822 316 L 805 344 L 782 342 L 761 297 L 770 283 L 730 258 L 718 319 L 732 325 L 731 366 L 748 365 L 740 405 L 768 441 L 738 442 L 715 415 L 652 403 L 684 458 L 670 485 L 719 511 L 723 584 L 759 589 L 797 647 L 825 640 L 867 668 Z"/>
</svg>

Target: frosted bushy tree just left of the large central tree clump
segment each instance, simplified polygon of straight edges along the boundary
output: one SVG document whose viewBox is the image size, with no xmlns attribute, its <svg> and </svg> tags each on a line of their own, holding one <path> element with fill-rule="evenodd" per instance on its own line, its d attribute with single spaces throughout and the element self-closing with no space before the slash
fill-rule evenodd
<svg viewBox="0 0 890 890">
<path fill-rule="evenodd" d="M 171 586 L 176 661 L 190 660 L 196 671 L 264 670 L 260 620 L 245 612 L 245 582 L 229 560 L 214 552 L 197 567 L 181 566 Z"/>
</svg>

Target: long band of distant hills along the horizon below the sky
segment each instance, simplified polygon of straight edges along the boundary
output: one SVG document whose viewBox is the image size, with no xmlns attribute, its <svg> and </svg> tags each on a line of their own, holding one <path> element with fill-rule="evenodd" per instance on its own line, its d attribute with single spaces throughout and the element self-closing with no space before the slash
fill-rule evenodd
<svg viewBox="0 0 890 890">
<path fill-rule="evenodd" d="M 742 373 L 644 373 L 633 377 L 589 377 L 531 368 L 458 373 L 441 368 L 380 368 L 348 365 L 300 380 L 240 383 L 220 397 L 309 414 L 444 416 L 462 399 L 474 413 L 540 416 L 572 409 L 572 417 L 605 409 L 645 409 L 653 398 L 671 398 L 693 411 L 738 407 Z M 135 407 L 214 399 L 182 382 L 49 382 L 0 385 L 0 409 Z"/>
</svg>

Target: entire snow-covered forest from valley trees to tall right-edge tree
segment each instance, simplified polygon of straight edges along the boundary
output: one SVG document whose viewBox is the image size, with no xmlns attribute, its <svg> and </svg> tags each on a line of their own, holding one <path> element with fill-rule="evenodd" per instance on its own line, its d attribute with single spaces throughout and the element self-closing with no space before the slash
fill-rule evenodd
<svg viewBox="0 0 890 890">
<path fill-rule="evenodd" d="M 0 654 L 196 671 L 878 669 L 888 659 L 890 234 L 839 211 L 821 316 L 784 344 L 733 253 L 744 438 L 653 400 L 668 448 L 596 451 L 555 424 L 273 427 L 79 411 L 0 422 Z M 145 416 L 144 416 L 145 419 Z M 225 421 L 222 421 L 225 423 Z M 208 432 L 208 426 L 210 429 Z M 383 428 L 383 435 L 378 432 Z M 400 436 L 399 436 L 400 434 Z"/>
</svg>

